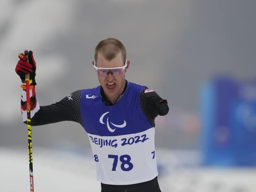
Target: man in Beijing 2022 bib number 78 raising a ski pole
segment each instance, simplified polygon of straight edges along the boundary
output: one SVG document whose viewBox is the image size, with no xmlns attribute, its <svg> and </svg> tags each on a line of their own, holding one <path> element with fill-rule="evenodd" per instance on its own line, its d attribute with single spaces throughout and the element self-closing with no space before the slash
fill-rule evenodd
<svg viewBox="0 0 256 192">
<path fill-rule="evenodd" d="M 23 54 L 16 73 L 31 77 L 31 125 L 60 121 L 80 123 L 87 132 L 102 192 L 161 191 L 157 181 L 155 117 L 169 111 L 167 101 L 155 91 L 125 79 L 130 61 L 126 49 L 114 38 L 98 43 L 93 61 L 101 86 L 78 90 L 61 101 L 39 106 L 35 97 L 36 63 Z M 26 123 L 26 90 L 22 85 L 21 110 Z"/>
</svg>

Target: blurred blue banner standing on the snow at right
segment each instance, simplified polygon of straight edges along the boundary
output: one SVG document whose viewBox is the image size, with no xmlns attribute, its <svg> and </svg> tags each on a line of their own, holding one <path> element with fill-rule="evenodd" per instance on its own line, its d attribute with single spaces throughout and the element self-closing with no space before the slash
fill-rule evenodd
<svg viewBox="0 0 256 192">
<path fill-rule="evenodd" d="M 256 166 L 256 81 L 216 77 L 200 98 L 203 163 Z"/>
</svg>

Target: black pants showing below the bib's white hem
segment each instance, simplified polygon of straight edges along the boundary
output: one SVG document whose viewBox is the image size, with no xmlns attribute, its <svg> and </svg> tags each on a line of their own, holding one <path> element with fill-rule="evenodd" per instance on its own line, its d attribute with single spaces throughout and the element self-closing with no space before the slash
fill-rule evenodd
<svg viewBox="0 0 256 192">
<path fill-rule="evenodd" d="M 157 177 L 143 183 L 132 185 L 108 185 L 101 183 L 101 192 L 161 192 Z"/>
</svg>

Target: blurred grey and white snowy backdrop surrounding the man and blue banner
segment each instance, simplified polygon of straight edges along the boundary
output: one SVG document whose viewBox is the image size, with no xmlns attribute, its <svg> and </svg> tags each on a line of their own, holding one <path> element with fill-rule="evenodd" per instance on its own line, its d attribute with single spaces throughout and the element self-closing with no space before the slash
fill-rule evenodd
<svg viewBox="0 0 256 192">
<path fill-rule="evenodd" d="M 254 192 L 255 168 L 201 167 L 198 89 L 214 73 L 255 78 L 255 0 L 1 0 L 0 192 L 28 191 L 18 54 L 33 50 L 40 105 L 98 86 L 94 48 L 118 38 L 126 79 L 168 100 L 156 120 L 163 192 Z M 32 128 L 35 191 L 100 191 L 89 140 L 74 122 Z"/>
</svg>

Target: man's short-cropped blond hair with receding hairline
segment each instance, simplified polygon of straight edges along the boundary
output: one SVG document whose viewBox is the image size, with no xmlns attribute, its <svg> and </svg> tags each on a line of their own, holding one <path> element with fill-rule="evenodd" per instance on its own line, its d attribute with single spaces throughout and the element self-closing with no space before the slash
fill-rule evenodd
<svg viewBox="0 0 256 192">
<path fill-rule="evenodd" d="M 107 61 L 114 59 L 121 51 L 123 63 L 126 60 L 126 49 L 121 41 L 115 38 L 106 38 L 98 43 L 94 51 L 94 60 L 97 62 L 98 53 L 103 54 L 103 57 Z"/>
</svg>

